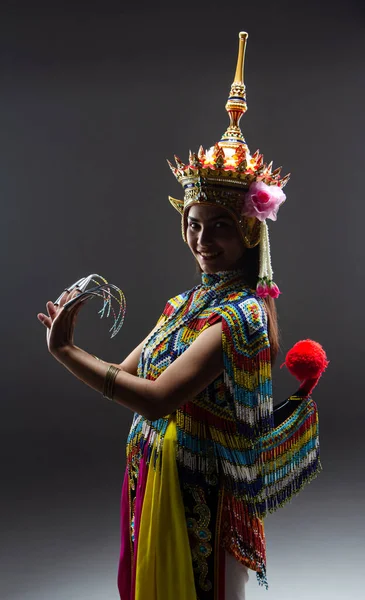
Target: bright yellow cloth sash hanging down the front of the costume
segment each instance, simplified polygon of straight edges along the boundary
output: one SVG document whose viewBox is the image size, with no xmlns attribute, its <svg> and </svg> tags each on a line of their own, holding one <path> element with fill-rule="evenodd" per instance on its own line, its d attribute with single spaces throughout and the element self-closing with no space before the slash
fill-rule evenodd
<svg viewBox="0 0 365 600">
<path fill-rule="evenodd" d="M 135 600 L 195 600 L 191 551 L 176 466 L 175 416 L 170 417 L 163 451 L 154 469 L 159 441 L 157 435 L 143 500 Z"/>
</svg>

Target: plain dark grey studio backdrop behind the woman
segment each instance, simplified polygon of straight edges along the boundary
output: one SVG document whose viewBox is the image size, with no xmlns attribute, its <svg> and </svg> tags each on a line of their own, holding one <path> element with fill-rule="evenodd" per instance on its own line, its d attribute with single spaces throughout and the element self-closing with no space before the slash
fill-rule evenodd
<svg viewBox="0 0 365 600">
<path fill-rule="evenodd" d="M 87 8 L 86 8 L 87 7 Z M 314 398 L 324 471 L 267 519 L 269 592 L 247 600 L 362 597 L 364 564 L 362 2 L 3 2 L 2 600 L 116 600 L 119 496 L 132 414 L 47 352 L 36 314 L 89 273 L 119 285 L 110 340 L 97 301 L 76 343 L 120 362 L 166 300 L 197 283 L 167 196 L 165 159 L 227 126 L 237 34 L 249 32 L 241 124 L 252 152 L 291 172 L 270 226 L 283 352 L 330 365 Z"/>
</svg>

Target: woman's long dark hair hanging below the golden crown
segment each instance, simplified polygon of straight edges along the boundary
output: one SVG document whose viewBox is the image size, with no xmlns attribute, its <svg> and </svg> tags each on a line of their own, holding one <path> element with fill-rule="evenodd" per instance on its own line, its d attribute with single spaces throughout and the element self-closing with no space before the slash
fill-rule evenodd
<svg viewBox="0 0 365 600">
<path fill-rule="evenodd" d="M 197 271 L 201 273 L 201 268 L 198 261 L 196 261 L 196 264 Z M 245 252 L 242 256 L 240 264 L 237 265 L 237 268 L 243 269 L 245 282 L 250 286 L 250 288 L 255 290 L 260 270 L 260 244 L 255 246 L 255 248 L 245 248 Z M 264 303 L 267 314 L 267 330 L 270 341 L 271 365 L 274 366 L 280 350 L 278 315 L 274 298 L 267 296 L 264 298 Z"/>
</svg>

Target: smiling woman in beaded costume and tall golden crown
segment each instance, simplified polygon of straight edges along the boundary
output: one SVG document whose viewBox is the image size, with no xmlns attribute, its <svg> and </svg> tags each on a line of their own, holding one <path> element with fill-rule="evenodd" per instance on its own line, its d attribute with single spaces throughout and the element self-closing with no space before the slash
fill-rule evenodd
<svg viewBox="0 0 365 600">
<path fill-rule="evenodd" d="M 53 356 L 134 411 L 122 491 L 122 600 L 242 600 L 248 569 L 267 586 L 263 517 L 320 470 L 315 382 L 274 411 L 278 352 L 266 218 L 287 178 L 249 154 L 240 34 L 230 127 L 207 153 L 176 159 L 182 234 L 202 282 L 169 300 L 154 330 L 120 364 L 73 344 L 81 303 L 47 303 Z M 258 283 L 256 285 L 258 279 Z M 256 289 L 255 289 L 256 288 Z"/>
</svg>

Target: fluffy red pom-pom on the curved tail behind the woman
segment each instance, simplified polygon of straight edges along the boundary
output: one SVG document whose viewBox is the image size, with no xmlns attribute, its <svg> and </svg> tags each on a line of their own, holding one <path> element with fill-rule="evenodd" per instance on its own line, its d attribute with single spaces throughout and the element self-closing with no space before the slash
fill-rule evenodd
<svg viewBox="0 0 365 600">
<path fill-rule="evenodd" d="M 294 344 L 286 355 L 284 365 L 301 382 L 298 390 L 309 395 L 317 385 L 329 361 L 321 344 L 313 340 L 301 340 Z"/>
</svg>

